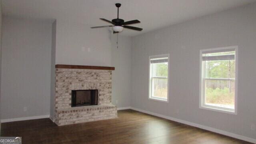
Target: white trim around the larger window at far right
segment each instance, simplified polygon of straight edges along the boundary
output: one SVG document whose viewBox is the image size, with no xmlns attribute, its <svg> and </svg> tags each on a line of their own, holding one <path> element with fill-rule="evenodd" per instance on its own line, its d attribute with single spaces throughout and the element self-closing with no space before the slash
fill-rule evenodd
<svg viewBox="0 0 256 144">
<path fill-rule="evenodd" d="M 235 76 L 235 108 L 234 111 L 225 109 L 225 108 L 219 108 L 216 106 L 209 106 L 209 105 L 205 105 L 204 104 L 204 94 L 203 94 L 203 88 L 202 88 L 202 84 L 203 84 L 203 75 L 202 75 L 202 53 L 203 52 L 207 52 L 207 51 L 215 51 L 215 50 L 226 50 L 226 49 L 234 49 L 236 52 L 235 55 L 235 60 L 236 60 L 236 76 Z M 211 49 L 204 49 L 204 50 L 200 50 L 200 87 L 199 87 L 199 108 L 201 109 L 205 109 L 205 110 L 212 110 L 212 111 L 216 111 L 216 112 L 224 112 L 224 113 L 228 113 L 228 114 L 235 114 L 237 115 L 237 90 L 238 90 L 238 46 L 228 46 L 228 47 L 222 47 L 222 48 L 211 48 Z"/>
</svg>

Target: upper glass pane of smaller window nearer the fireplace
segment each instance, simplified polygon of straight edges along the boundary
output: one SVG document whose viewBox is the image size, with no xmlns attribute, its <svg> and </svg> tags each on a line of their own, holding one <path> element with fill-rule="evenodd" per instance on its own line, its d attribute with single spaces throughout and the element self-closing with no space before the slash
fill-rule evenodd
<svg viewBox="0 0 256 144">
<path fill-rule="evenodd" d="M 152 64 L 152 76 L 167 77 L 168 76 L 168 62 Z"/>
</svg>

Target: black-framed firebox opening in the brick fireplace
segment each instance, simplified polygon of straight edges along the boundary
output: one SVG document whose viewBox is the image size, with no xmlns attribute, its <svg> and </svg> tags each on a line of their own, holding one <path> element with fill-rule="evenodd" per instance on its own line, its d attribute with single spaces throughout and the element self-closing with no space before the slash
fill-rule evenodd
<svg viewBox="0 0 256 144">
<path fill-rule="evenodd" d="M 98 90 L 72 90 L 71 107 L 98 105 Z"/>
</svg>

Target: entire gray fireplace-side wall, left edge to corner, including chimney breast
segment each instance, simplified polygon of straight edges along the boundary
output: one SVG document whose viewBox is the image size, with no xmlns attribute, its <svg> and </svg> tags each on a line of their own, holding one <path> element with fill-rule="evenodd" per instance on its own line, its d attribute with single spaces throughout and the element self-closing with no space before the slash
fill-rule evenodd
<svg viewBox="0 0 256 144">
<path fill-rule="evenodd" d="M 1 118 L 50 113 L 53 119 L 55 64 L 116 67 L 112 74 L 112 103 L 130 106 L 132 40 L 119 36 L 118 49 L 115 40 L 110 29 L 92 30 L 90 26 L 61 20 L 51 23 L 5 16 Z"/>
</svg>

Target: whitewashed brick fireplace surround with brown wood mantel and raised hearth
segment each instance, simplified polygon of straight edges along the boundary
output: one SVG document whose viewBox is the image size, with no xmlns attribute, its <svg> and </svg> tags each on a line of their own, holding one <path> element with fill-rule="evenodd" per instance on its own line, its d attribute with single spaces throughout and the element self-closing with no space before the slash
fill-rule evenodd
<svg viewBox="0 0 256 144">
<path fill-rule="evenodd" d="M 55 123 L 58 126 L 117 118 L 111 104 L 112 70 L 102 66 L 55 66 Z M 71 90 L 98 90 L 98 105 L 71 107 Z"/>
</svg>

